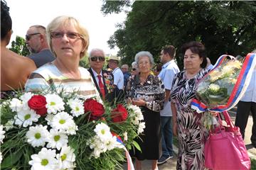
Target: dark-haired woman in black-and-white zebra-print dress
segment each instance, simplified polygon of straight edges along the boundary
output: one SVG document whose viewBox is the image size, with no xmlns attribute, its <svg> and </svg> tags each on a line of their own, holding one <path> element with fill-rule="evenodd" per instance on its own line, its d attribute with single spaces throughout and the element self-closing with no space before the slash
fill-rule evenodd
<svg viewBox="0 0 256 170">
<path fill-rule="evenodd" d="M 201 42 L 188 42 L 181 47 L 183 72 L 174 77 L 171 89 L 171 111 L 174 135 L 178 131 L 178 161 L 176 169 L 205 169 L 203 148 L 208 131 L 202 124 L 202 114 L 191 108 L 198 81 L 208 72 L 206 50 Z"/>
</svg>

